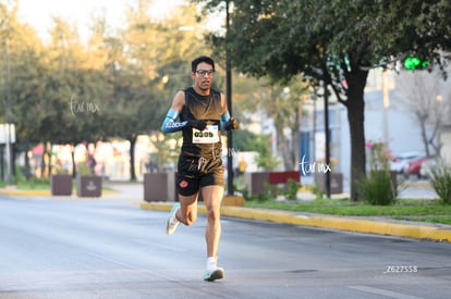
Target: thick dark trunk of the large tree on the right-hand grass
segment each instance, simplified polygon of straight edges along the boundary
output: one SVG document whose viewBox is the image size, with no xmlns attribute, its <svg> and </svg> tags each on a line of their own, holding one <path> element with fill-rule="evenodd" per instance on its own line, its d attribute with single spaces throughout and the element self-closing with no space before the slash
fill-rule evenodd
<svg viewBox="0 0 451 299">
<path fill-rule="evenodd" d="M 365 102 L 364 88 L 368 71 L 357 68 L 348 78 L 348 121 L 351 136 L 351 200 L 361 199 L 358 182 L 365 175 Z"/>
</svg>

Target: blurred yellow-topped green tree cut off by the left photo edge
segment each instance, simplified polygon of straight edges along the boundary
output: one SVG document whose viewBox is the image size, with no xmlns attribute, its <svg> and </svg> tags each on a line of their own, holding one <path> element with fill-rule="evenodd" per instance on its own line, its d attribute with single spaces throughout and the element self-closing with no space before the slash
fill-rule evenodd
<svg viewBox="0 0 451 299">
<path fill-rule="evenodd" d="M 16 144 L 13 148 L 27 151 L 38 138 L 38 123 L 45 114 L 40 105 L 44 86 L 39 82 L 42 74 L 40 53 L 42 45 L 35 32 L 17 20 L 17 5 L 0 3 L 0 122 L 12 122 L 16 129 Z M 29 174 L 29 163 L 25 157 L 25 171 Z M 15 160 L 14 160 L 15 161 Z M 15 167 L 13 167 L 15 173 Z"/>
</svg>

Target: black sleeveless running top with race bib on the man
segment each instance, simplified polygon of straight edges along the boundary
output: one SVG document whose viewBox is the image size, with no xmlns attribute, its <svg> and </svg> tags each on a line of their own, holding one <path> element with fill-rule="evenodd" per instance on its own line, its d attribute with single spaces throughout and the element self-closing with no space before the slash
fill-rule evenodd
<svg viewBox="0 0 451 299">
<path fill-rule="evenodd" d="M 185 90 L 185 105 L 180 113 L 180 121 L 204 120 L 207 129 L 198 132 L 192 127 L 183 128 L 182 157 L 207 159 L 221 158 L 221 127 L 222 114 L 221 94 L 210 89 L 208 96 L 198 95 L 193 87 Z"/>
</svg>

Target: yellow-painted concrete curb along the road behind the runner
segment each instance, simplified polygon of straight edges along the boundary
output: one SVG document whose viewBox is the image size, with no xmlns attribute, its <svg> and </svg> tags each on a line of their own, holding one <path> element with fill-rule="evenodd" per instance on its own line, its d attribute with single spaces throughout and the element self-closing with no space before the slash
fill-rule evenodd
<svg viewBox="0 0 451 299">
<path fill-rule="evenodd" d="M 146 202 L 141 203 L 139 205 L 141 209 L 156 211 L 170 211 L 171 207 L 171 202 Z M 198 213 L 206 213 L 204 205 L 198 207 Z M 365 234 L 399 236 L 434 241 L 451 241 L 451 228 L 432 225 L 414 225 L 342 216 L 308 215 L 289 211 L 241 207 L 221 207 L 221 215 Z"/>
</svg>

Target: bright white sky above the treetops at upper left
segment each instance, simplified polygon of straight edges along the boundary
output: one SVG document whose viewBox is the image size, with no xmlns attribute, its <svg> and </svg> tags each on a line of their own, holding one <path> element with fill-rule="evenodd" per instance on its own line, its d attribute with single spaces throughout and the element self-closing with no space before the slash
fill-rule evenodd
<svg viewBox="0 0 451 299">
<path fill-rule="evenodd" d="M 183 0 L 153 0 L 151 12 L 167 14 Z M 125 11 L 138 0 L 19 0 L 19 17 L 34 27 L 41 38 L 49 39 L 52 16 L 59 16 L 71 25 L 77 25 L 82 40 L 89 35 L 94 16 L 105 15 L 107 24 L 120 28 L 125 22 Z"/>
</svg>

